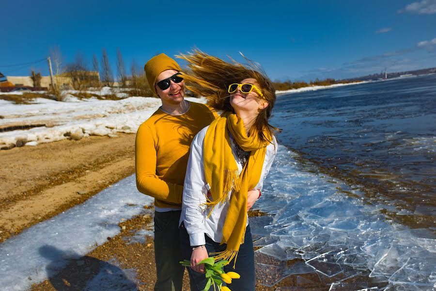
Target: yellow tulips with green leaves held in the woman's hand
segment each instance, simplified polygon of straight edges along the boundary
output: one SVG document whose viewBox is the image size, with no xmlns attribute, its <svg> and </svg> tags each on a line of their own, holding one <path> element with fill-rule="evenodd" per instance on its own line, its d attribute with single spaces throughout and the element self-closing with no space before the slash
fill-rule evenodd
<svg viewBox="0 0 436 291">
<path fill-rule="evenodd" d="M 238 273 L 235 272 L 227 272 L 224 273 L 224 271 L 221 269 L 226 265 L 229 261 L 223 259 L 219 262 L 215 263 L 215 258 L 209 257 L 206 259 L 203 259 L 198 263 L 204 264 L 204 270 L 206 271 L 206 287 L 204 287 L 203 291 L 209 291 L 210 286 L 213 284 L 214 290 L 220 291 L 231 291 L 227 286 L 222 286 L 222 282 L 224 281 L 227 284 L 232 283 L 232 279 L 239 279 L 241 276 Z M 185 267 L 190 267 L 191 262 L 185 259 L 184 261 L 180 262 Z"/>
</svg>

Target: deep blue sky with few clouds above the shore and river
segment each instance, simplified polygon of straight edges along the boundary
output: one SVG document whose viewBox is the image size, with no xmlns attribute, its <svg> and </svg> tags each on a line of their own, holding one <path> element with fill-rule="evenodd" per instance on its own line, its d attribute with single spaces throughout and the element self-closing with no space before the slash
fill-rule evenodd
<svg viewBox="0 0 436 291">
<path fill-rule="evenodd" d="M 128 73 L 133 59 L 142 68 L 193 48 L 241 61 L 240 51 L 281 81 L 436 67 L 436 0 L 15 0 L 0 9 L 6 76 L 47 75 L 47 62 L 34 62 L 55 47 L 62 64 L 80 52 L 90 67 L 105 48 L 115 75 L 117 49 Z"/>
</svg>

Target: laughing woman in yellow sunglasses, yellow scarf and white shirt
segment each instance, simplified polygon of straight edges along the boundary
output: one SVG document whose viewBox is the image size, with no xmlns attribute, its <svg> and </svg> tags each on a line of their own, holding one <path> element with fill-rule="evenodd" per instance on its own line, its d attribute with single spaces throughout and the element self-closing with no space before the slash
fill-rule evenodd
<svg viewBox="0 0 436 291">
<path fill-rule="evenodd" d="M 190 259 L 191 286 L 206 285 L 202 259 L 226 259 L 226 272 L 241 275 L 229 287 L 254 290 L 254 250 L 247 211 L 260 197 L 277 143 L 268 118 L 276 99 L 272 82 L 262 73 L 200 51 L 180 58 L 192 74 L 184 75 L 191 91 L 208 96 L 221 111 L 191 144 L 185 177 L 181 240 Z M 213 290 L 213 287 L 211 287 Z"/>
</svg>

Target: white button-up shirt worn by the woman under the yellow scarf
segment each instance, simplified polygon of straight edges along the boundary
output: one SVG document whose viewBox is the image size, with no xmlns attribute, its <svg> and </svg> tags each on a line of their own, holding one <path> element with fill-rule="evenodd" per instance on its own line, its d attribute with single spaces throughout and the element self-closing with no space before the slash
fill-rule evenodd
<svg viewBox="0 0 436 291">
<path fill-rule="evenodd" d="M 230 196 L 232 194 L 232 192 L 229 192 L 229 199 L 226 199 L 223 203 L 217 204 L 209 218 L 207 218 L 209 210 L 206 210 L 206 206 L 203 205 L 206 202 L 207 195 L 206 179 L 204 178 L 203 141 L 208 128 L 209 127 L 205 127 L 202 129 L 192 141 L 189 160 L 187 163 L 185 184 L 183 186 L 182 215 L 180 216 L 180 224 L 183 221 L 185 222 L 185 227 L 189 234 L 190 245 L 205 244 L 204 234 L 207 234 L 207 236 L 214 242 L 221 242 L 222 227 L 224 226 L 227 210 L 229 208 Z M 242 164 L 237 158 L 232 136 L 230 140 L 232 153 L 240 174 L 242 171 Z M 262 190 L 264 179 L 271 168 L 274 157 L 276 156 L 277 146 L 278 144 L 275 137 L 274 143 L 266 146 L 261 177 L 254 189 Z"/>
</svg>

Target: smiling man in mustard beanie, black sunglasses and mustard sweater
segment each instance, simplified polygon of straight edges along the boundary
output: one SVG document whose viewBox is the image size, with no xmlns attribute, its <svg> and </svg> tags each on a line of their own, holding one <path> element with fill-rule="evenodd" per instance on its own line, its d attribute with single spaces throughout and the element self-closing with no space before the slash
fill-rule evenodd
<svg viewBox="0 0 436 291">
<path fill-rule="evenodd" d="M 189 146 L 202 128 L 215 118 L 204 105 L 185 100 L 180 66 L 161 53 L 144 66 L 150 88 L 162 106 L 136 135 L 136 184 L 155 197 L 155 291 L 181 290 L 182 260 L 179 219 Z"/>
</svg>

